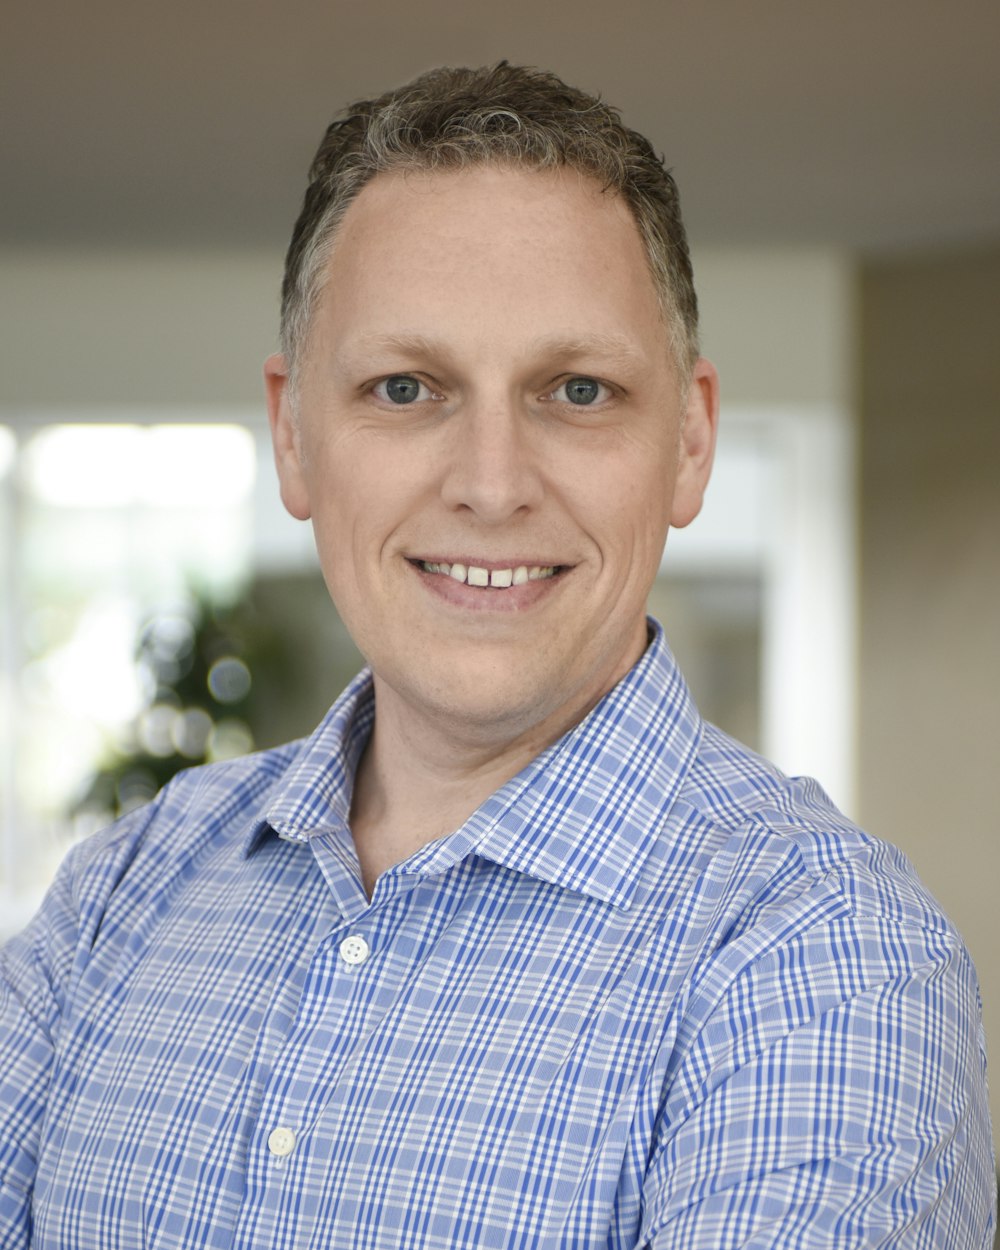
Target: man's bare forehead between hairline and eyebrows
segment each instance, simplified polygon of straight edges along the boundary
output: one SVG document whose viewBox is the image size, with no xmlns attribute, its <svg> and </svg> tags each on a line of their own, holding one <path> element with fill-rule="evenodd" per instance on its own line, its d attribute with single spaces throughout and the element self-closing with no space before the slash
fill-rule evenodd
<svg viewBox="0 0 1000 1250">
<path fill-rule="evenodd" d="M 469 331 L 665 339 L 625 201 L 571 170 L 380 174 L 334 238 L 318 316 L 350 326 L 451 314 Z"/>
</svg>

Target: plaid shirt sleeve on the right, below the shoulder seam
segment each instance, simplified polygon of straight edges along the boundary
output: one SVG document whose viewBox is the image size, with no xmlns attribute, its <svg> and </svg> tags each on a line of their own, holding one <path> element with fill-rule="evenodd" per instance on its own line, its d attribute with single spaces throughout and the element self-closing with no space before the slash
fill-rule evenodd
<svg viewBox="0 0 1000 1250">
<path fill-rule="evenodd" d="M 994 1224 L 979 991 L 952 931 L 821 926 L 716 994 L 670 1082 L 641 1245 L 988 1250 Z"/>
</svg>

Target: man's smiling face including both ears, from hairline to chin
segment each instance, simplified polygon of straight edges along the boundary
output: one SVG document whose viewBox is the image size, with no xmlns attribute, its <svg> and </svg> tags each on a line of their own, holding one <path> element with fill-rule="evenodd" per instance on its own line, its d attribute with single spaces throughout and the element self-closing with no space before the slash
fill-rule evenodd
<svg viewBox="0 0 1000 1250">
<path fill-rule="evenodd" d="M 381 175 L 338 231 L 298 416 L 282 359 L 266 374 L 281 495 L 380 716 L 544 745 L 641 655 L 715 374 L 681 394 L 619 198 L 571 172 Z"/>
</svg>

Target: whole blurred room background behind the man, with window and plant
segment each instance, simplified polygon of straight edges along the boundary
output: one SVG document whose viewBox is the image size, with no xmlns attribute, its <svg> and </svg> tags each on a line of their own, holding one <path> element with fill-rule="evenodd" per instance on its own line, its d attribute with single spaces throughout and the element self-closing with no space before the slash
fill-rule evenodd
<svg viewBox="0 0 1000 1250">
<path fill-rule="evenodd" d="M 284 249 L 340 105 L 508 58 L 681 189 L 722 435 L 651 606 L 702 711 L 908 851 L 1000 1054 L 999 50 L 992 0 L 8 0 L 0 932 L 355 671 L 270 461 Z"/>
</svg>

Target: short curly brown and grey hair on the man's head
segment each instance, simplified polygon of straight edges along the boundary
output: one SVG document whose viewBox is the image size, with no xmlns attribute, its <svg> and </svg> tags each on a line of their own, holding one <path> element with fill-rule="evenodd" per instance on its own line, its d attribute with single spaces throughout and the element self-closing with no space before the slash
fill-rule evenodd
<svg viewBox="0 0 1000 1250">
<path fill-rule="evenodd" d="M 281 348 L 292 382 L 336 229 L 379 174 L 475 166 L 569 169 L 629 206 L 681 380 L 698 359 L 698 302 L 678 189 L 618 110 L 554 74 L 500 62 L 438 69 L 350 106 L 328 129 L 285 260 Z"/>
</svg>

